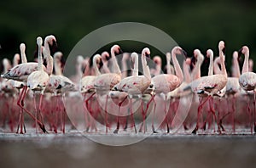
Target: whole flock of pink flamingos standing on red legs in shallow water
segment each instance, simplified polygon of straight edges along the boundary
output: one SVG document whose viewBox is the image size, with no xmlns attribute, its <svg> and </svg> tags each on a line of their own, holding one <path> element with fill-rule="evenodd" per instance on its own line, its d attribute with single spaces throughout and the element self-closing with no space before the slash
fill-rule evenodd
<svg viewBox="0 0 256 168">
<path fill-rule="evenodd" d="M 64 133 L 67 100 L 74 95 L 83 102 L 84 117 L 80 120 L 84 120 L 84 132 L 99 132 L 98 121 L 106 133 L 168 133 L 179 113 L 178 106 L 188 105 L 191 95 L 191 107 L 181 128 L 184 132 L 256 132 L 256 74 L 247 46 L 233 53 L 232 77 L 225 67 L 225 45 L 220 41 L 215 59 L 212 49 L 205 56 L 195 49 L 189 57 L 183 48 L 172 48 L 171 53 L 166 53 L 166 74 L 162 73 L 159 56 L 154 56 L 154 67 L 149 68 L 149 48 L 143 48 L 139 55 L 122 53 L 119 45 L 113 45 L 110 54 L 103 52 L 90 59 L 78 56 L 77 74 L 67 78 L 63 76 L 61 52 L 51 52 L 55 44 L 53 35 L 45 37 L 44 45 L 38 36 L 34 62 L 27 62 L 24 43 L 20 44 L 20 54 L 15 54 L 13 65 L 3 59 L 1 132 L 23 134 L 26 125 L 31 125 L 35 132 Z M 117 55 L 122 56 L 122 70 Z M 241 55 L 244 59 L 240 70 Z M 182 67 L 177 57 L 183 58 Z M 201 76 L 201 65 L 206 61 L 208 76 Z M 129 71 L 124 69 L 126 62 L 131 63 Z M 139 104 L 137 108 L 135 104 Z M 148 121 L 149 114 L 153 117 Z"/>
</svg>

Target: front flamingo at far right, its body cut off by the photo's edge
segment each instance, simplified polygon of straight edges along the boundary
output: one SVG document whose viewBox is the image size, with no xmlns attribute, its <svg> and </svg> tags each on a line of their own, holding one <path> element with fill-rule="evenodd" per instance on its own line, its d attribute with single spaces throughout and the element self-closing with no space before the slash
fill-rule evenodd
<svg viewBox="0 0 256 168">
<path fill-rule="evenodd" d="M 241 76 L 239 77 L 239 84 L 241 88 L 246 91 L 253 91 L 254 93 L 254 98 L 253 98 L 253 110 L 254 110 L 254 118 L 253 118 L 253 124 L 254 124 L 254 132 L 256 132 L 256 112 L 255 112 L 255 87 L 256 87 L 256 74 L 254 72 L 249 71 L 249 48 L 247 46 L 243 46 L 239 53 L 238 56 L 241 56 L 241 53 L 244 54 L 245 59 L 242 65 L 242 70 L 241 70 Z M 251 132 L 253 132 L 252 125 L 251 125 Z"/>
</svg>

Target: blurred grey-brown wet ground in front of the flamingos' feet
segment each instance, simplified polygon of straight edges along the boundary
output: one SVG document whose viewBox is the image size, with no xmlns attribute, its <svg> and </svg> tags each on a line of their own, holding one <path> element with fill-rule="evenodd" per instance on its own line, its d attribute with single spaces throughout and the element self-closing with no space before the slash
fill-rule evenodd
<svg viewBox="0 0 256 168">
<path fill-rule="evenodd" d="M 0 133 L 1 167 L 255 167 L 254 135 L 157 134 L 113 147 L 79 133 Z M 126 135 L 127 136 L 127 135 Z M 143 137 L 138 134 L 137 137 Z M 89 138 L 88 138 L 89 137 Z M 132 137 L 132 136 L 131 136 Z M 126 138 L 126 137 L 125 137 Z"/>
</svg>

